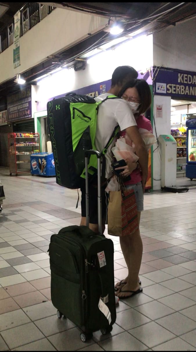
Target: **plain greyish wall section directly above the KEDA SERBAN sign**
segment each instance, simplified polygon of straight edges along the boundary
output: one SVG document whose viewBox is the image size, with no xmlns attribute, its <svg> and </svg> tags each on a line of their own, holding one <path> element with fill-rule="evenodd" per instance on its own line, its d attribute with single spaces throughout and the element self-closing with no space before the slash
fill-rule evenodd
<svg viewBox="0 0 196 352">
<path fill-rule="evenodd" d="M 196 71 L 196 17 L 153 34 L 153 64 Z"/>
</svg>

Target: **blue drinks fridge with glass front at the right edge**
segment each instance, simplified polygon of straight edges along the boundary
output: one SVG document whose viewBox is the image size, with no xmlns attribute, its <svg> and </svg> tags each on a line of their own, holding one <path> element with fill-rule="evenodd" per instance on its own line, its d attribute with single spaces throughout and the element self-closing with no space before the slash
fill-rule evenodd
<svg viewBox="0 0 196 352">
<path fill-rule="evenodd" d="M 188 114 L 186 120 L 186 177 L 196 178 L 196 114 Z"/>
</svg>

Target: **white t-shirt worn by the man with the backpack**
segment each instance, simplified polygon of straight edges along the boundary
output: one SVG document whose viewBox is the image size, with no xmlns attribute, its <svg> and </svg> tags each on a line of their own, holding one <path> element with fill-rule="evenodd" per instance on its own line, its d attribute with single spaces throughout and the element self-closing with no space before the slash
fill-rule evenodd
<svg viewBox="0 0 196 352">
<path fill-rule="evenodd" d="M 111 93 L 104 93 L 95 98 L 96 101 L 106 99 Z M 128 127 L 137 126 L 134 115 L 123 99 L 108 99 L 99 105 L 97 115 L 97 128 L 95 135 L 95 147 L 102 152 L 112 136 L 115 126 L 119 125 L 120 130 L 123 131 Z M 116 140 L 110 144 L 106 153 L 106 174 L 105 177 L 112 176 L 110 165 L 114 160 L 111 148 L 114 146 Z"/>
</svg>

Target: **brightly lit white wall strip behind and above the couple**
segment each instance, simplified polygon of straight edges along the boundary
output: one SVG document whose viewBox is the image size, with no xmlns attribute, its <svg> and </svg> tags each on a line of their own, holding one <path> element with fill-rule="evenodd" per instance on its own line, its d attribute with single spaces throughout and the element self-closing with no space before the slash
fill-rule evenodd
<svg viewBox="0 0 196 352">
<path fill-rule="evenodd" d="M 129 65 L 137 71 L 151 67 L 152 43 L 152 36 L 129 40 L 115 50 L 101 52 L 92 57 L 85 70 L 75 72 L 74 69 L 65 68 L 51 77 L 44 78 L 38 82 L 38 110 L 45 110 L 48 99 L 53 96 L 111 79 L 114 69 L 118 66 Z M 145 56 L 135 54 L 141 47 L 146 52 Z"/>
</svg>

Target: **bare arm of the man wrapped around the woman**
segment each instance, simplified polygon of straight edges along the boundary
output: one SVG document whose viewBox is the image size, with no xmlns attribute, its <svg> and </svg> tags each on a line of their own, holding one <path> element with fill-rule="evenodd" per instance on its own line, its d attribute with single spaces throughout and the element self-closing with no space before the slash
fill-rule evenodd
<svg viewBox="0 0 196 352">
<path fill-rule="evenodd" d="M 141 168 L 141 182 L 143 185 L 143 191 L 145 191 L 146 180 L 148 176 L 148 151 L 146 149 L 145 143 L 141 138 L 141 134 L 138 131 L 137 126 L 132 126 L 126 128 L 126 133 L 128 137 L 133 141 L 135 145 L 135 153 L 139 156 L 139 164 Z"/>
</svg>

